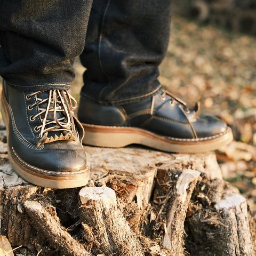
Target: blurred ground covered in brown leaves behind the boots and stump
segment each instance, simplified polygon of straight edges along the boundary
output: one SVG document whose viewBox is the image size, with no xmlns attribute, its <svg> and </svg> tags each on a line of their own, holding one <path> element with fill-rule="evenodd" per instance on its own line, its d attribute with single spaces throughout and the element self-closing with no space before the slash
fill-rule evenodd
<svg viewBox="0 0 256 256">
<path fill-rule="evenodd" d="M 159 80 L 202 113 L 220 116 L 235 141 L 217 151 L 223 177 L 256 210 L 256 37 L 174 17 Z M 85 70 L 75 62 L 71 93 L 79 99 Z"/>
</svg>

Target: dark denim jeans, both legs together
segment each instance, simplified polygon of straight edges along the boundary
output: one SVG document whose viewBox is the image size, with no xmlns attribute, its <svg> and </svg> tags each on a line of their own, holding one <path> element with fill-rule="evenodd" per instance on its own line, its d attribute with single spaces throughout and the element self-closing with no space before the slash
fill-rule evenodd
<svg viewBox="0 0 256 256">
<path fill-rule="evenodd" d="M 171 0 L 0 0 L 0 75 L 21 90 L 68 89 L 81 54 L 83 95 L 145 97 L 159 88 L 170 19 Z"/>
</svg>

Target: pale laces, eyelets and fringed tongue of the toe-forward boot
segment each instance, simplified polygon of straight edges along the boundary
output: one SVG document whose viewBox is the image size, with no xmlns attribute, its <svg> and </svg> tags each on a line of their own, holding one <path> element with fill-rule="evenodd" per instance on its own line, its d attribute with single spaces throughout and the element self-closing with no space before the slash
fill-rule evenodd
<svg viewBox="0 0 256 256">
<path fill-rule="evenodd" d="M 36 96 L 36 102 L 28 106 L 31 110 L 34 107 L 38 107 L 38 113 L 34 116 L 30 116 L 31 121 L 39 116 L 41 117 L 42 124 L 35 127 L 35 131 L 39 132 L 37 135 L 39 141 L 37 146 L 40 146 L 43 142 L 49 143 L 56 140 L 76 140 L 74 136 L 75 123 L 73 119 L 74 110 L 77 108 L 77 102 L 67 91 L 64 90 L 50 90 L 49 97 L 41 99 L 39 94 L 45 91 L 38 91 L 27 94 L 26 99 L 29 100 L 31 97 Z M 42 107 L 42 104 L 47 103 L 47 107 Z M 53 113 L 53 118 L 49 118 L 49 114 Z M 62 114 L 59 115 L 58 113 Z M 43 116 L 43 118 L 42 118 Z M 53 137 L 48 138 L 49 132 L 59 131 L 61 132 Z M 63 134 L 62 134 L 63 133 Z"/>
</svg>

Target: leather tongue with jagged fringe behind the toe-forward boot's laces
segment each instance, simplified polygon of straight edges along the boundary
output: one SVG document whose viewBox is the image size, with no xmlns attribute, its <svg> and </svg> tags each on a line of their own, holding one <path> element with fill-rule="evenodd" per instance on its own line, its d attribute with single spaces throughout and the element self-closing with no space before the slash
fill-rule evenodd
<svg viewBox="0 0 256 256">
<path fill-rule="evenodd" d="M 50 143 L 50 142 L 59 141 L 59 140 L 73 140 L 73 141 L 76 140 L 77 132 L 73 131 L 71 122 L 70 122 L 70 125 L 67 127 L 59 127 L 59 125 L 56 122 L 50 123 L 52 121 L 56 121 L 55 119 L 58 119 L 60 123 L 67 124 L 67 122 L 68 122 L 67 115 L 70 116 L 70 119 L 73 119 L 73 117 L 71 116 L 71 114 L 66 113 L 66 111 L 64 111 L 63 103 L 61 102 L 59 94 L 57 92 L 57 94 L 56 94 L 57 98 L 56 98 L 56 102 L 55 102 L 55 118 L 54 118 L 53 93 L 51 94 L 51 99 L 49 97 L 50 97 L 50 91 L 44 91 L 37 95 L 37 98 L 39 98 L 39 99 L 51 100 L 50 106 L 49 106 L 49 111 L 47 113 L 45 129 L 48 129 L 50 127 L 55 127 L 55 129 L 47 132 L 47 136 L 45 137 L 44 143 Z M 38 106 L 39 109 L 46 110 L 47 106 L 49 105 L 49 100 L 39 104 L 39 106 Z M 46 112 L 44 112 L 43 114 L 40 115 L 42 123 L 45 118 L 45 114 L 46 114 Z"/>
</svg>

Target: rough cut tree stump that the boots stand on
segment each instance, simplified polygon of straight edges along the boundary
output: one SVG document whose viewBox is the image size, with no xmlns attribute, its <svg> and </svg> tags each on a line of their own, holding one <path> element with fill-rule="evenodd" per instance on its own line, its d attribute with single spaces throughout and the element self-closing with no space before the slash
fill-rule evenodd
<svg viewBox="0 0 256 256">
<path fill-rule="evenodd" d="M 19 256 L 255 255 L 255 221 L 214 153 L 85 147 L 89 184 L 50 189 L 22 180 L 0 139 L 0 235 Z"/>
</svg>

